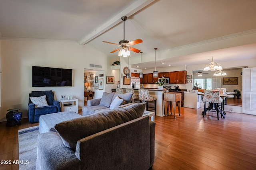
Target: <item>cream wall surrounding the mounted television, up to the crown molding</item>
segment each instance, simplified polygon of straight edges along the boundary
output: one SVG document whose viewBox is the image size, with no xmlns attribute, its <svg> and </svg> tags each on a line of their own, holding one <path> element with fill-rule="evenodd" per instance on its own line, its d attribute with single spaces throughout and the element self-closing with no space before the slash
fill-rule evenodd
<svg viewBox="0 0 256 170">
<path fill-rule="evenodd" d="M 53 90 L 55 99 L 61 94 L 78 98 L 78 108 L 84 106 L 84 68 L 89 64 L 110 66 L 106 55 L 88 45 L 76 42 L 1 40 L 1 108 L 0 121 L 6 119 L 7 109 L 20 108 L 27 116 L 28 94 L 33 90 Z M 97 57 L 97 60 L 95 60 Z M 32 87 L 32 66 L 73 69 L 72 87 Z M 105 86 L 106 87 L 106 86 Z"/>
</svg>

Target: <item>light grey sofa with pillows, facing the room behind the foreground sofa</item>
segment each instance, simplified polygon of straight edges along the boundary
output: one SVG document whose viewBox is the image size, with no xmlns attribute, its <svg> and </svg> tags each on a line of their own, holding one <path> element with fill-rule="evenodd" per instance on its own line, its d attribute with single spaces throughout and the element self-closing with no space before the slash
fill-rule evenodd
<svg viewBox="0 0 256 170">
<path fill-rule="evenodd" d="M 116 103 L 116 97 L 119 98 L 119 101 L 121 102 Z M 121 101 L 122 100 L 122 101 Z M 97 113 L 99 111 L 106 111 L 109 109 L 114 109 L 116 107 L 125 107 L 128 105 L 131 105 L 132 101 L 132 93 L 107 93 L 104 92 L 102 95 L 102 98 L 100 99 L 92 99 L 87 101 L 87 106 L 82 107 L 82 115 L 90 115 L 93 113 Z"/>
</svg>

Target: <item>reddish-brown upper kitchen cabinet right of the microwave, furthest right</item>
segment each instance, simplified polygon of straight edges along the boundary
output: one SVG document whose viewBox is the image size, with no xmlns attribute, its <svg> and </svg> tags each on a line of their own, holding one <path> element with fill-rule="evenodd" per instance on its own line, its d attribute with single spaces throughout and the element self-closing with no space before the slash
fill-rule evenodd
<svg viewBox="0 0 256 170">
<path fill-rule="evenodd" d="M 187 71 L 170 72 L 170 84 L 186 84 Z"/>
</svg>

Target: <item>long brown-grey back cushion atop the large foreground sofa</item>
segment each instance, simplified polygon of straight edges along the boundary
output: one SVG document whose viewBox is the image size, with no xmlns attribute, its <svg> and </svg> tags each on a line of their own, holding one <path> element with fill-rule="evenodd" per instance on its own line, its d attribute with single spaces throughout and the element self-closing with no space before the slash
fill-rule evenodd
<svg viewBox="0 0 256 170">
<path fill-rule="evenodd" d="M 145 104 L 132 104 L 127 107 L 98 112 L 92 115 L 63 121 L 55 125 L 64 145 L 75 150 L 79 139 L 100 131 L 142 117 Z"/>
</svg>

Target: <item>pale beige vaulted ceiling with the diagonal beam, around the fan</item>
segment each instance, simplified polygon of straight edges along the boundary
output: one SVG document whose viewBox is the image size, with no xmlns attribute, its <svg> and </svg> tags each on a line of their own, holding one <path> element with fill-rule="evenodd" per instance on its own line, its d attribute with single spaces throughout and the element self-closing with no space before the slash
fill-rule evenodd
<svg viewBox="0 0 256 170">
<path fill-rule="evenodd" d="M 102 41 L 118 44 L 127 16 L 125 39 L 143 40 L 133 47 L 148 68 L 155 47 L 159 67 L 208 63 L 212 56 L 250 59 L 256 58 L 255 9 L 256 0 L 0 0 L 0 38 L 76 41 L 117 59 L 110 51 L 118 46 Z M 135 58 L 140 53 L 131 52 Z"/>
</svg>

